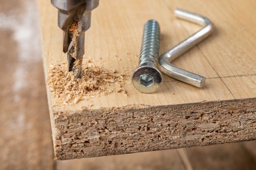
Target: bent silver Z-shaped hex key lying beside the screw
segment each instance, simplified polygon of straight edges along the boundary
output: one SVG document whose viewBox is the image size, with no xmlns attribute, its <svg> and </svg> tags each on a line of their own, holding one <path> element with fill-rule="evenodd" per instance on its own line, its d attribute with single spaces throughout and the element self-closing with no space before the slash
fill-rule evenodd
<svg viewBox="0 0 256 170">
<path fill-rule="evenodd" d="M 178 68 L 170 64 L 170 62 L 208 37 L 214 30 L 213 23 L 210 21 L 210 19 L 202 15 L 191 13 L 182 9 L 176 9 L 174 11 L 174 15 L 180 19 L 197 23 L 204 27 L 195 34 L 191 35 L 189 38 L 180 42 L 178 45 L 174 46 L 172 49 L 169 49 L 163 53 L 158 60 L 160 64 L 159 68 L 169 77 L 202 88 L 205 84 L 205 77 Z"/>
</svg>

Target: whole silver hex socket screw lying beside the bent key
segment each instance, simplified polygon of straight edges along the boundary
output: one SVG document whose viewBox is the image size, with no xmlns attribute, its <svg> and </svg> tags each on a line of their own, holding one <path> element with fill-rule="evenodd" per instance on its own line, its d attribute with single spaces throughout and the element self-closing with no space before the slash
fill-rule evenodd
<svg viewBox="0 0 256 170">
<path fill-rule="evenodd" d="M 142 93 L 152 93 L 162 83 L 162 74 L 158 70 L 160 28 L 155 20 L 144 25 L 139 67 L 132 74 L 132 85 Z"/>
</svg>

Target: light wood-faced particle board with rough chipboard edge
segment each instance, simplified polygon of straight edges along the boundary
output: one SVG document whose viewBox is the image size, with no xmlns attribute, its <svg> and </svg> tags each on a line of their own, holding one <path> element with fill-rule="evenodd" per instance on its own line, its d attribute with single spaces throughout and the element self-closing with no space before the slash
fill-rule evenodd
<svg viewBox="0 0 256 170">
<path fill-rule="evenodd" d="M 62 31 L 57 26 L 56 8 L 48 1 L 38 2 L 47 77 L 50 64 L 65 62 L 66 57 L 61 50 Z M 100 6 L 92 12 L 91 28 L 86 32 L 85 60 L 92 57 L 95 61 L 93 64 L 98 66 L 128 68 L 131 75 L 137 67 L 145 21 L 156 19 L 160 24 L 160 53 L 199 29 L 191 23 L 175 19 L 173 10 L 176 7 L 205 15 L 216 26 L 212 36 L 173 62 L 175 66 L 204 75 L 207 78 L 206 87 L 199 89 L 164 75 L 163 84 L 156 93 L 142 94 L 128 83 L 128 77 L 124 85 L 128 97 L 113 93 L 62 108 L 53 107 L 58 98 L 53 98 L 48 90 L 56 159 L 256 138 L 256 21 L 251 15 L 256 4 L 252 0 L 101 1 Z M 121 60 L 117 60 L 115 55 Z M 93 105 L 82 109 L 88 104 Z M 168 123 L 163 123 L 172 122 L 174 118 L 177 118 L 177 124 L 173 122 L 168 127 Z M 93 121 L 98 123 L 91 123 Z M 125 127 L 123 123 L 126 123 Z M 177 130 L 179 126 L 184 131 Z M 99 127 L 100 130 L 97 130 Z M 154 129 L 151 133 L 162 134 L 162 137 L 154 140 L 148 127 Z M 88 130 L 95 131 L 89 133 Z M 124 131 L 128 132 L 125 134 Z M 132 140 L 127 135 L 139 135 L 139 138 Z M 145 140 L 146 146 L 141 147 L 140 140 Z M 106 144 L 106 141 L 113 143 Z"/>
</svg>

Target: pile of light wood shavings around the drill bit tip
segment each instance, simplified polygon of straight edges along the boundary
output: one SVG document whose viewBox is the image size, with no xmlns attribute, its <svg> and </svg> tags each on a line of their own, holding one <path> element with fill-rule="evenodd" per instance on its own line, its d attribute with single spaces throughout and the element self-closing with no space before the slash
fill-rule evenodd
<svg viewBox="0 0 256 170">
<path fill-rule="evenodd" d="M 46 81 L 53 97 L 58 98 L 58 104 L 76 104 L 79 100 L 106 96 L 114 91 L 126 95 L 121 88 L 125 78 L 126 74 L 117 69 L 106 70 L 87 63 L 82 66 L 82 77 L 76 79 L 74 72 L 68 72 L 63 63 L 51 65 Z"/>
</svg>

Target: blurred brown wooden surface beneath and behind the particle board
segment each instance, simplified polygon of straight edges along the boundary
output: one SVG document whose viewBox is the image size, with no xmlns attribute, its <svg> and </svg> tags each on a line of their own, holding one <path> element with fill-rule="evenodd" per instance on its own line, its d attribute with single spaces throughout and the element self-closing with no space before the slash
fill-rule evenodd
<svg viewBox="0 0 256 170">
<path fill-rule="evenodd" d="M 38 25 L 35 0 L 0 0 L 0 170 L 256 169 L 256 141 L 54 161 Z"/>
</svg>

